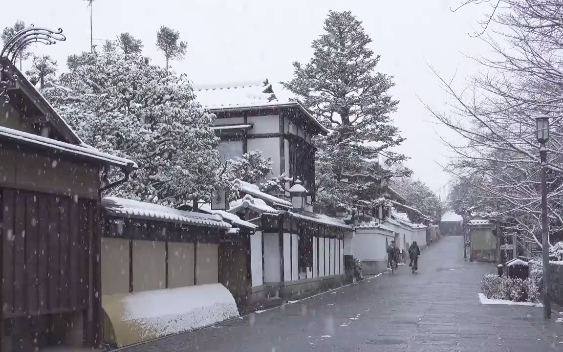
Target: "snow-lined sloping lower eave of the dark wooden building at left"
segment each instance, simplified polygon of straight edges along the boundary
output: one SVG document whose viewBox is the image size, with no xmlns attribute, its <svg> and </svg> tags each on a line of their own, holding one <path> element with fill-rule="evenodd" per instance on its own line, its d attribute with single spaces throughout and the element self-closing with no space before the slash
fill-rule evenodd
<svg viewBox="0 0 563 352">
<path fill-rule="evenodd" d="M 108 153 L 102 153 L 90 146 L 61 142 L 47 137 L 33 135 L 32 133 L 13 130 L 12 128 L 4 126 L 0 126 L 0 139 L 29 144 L 38 148 L 56 150 L 64 154 L 78 155 L 83 158 L 93 159 L 98 162 L 109 163 L 119 167 L 127 167 L 130 165 L 133 168 L 137 168 L 137 164 L 131 160 L 116 157 Z"/>
</svg>

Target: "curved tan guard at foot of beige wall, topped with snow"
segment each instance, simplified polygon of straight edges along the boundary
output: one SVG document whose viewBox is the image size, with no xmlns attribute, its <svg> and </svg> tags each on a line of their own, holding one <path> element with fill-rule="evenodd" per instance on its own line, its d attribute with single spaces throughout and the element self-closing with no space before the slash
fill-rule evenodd
<svg viewBox="0 0 563 352">
<path fill-rule="evenodd" d="M 102 306 L 119 347 L 239 316 L 233 295 L 220 283 L 108 295 Z"/>
</svg>

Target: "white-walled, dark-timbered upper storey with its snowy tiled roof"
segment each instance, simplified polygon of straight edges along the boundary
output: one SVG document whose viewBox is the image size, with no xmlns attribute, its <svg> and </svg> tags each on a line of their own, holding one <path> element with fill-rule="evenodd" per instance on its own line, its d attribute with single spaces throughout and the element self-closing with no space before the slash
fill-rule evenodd
<svg viewBox="0 0 563 352">
<path fill-rule="evenodd" d="M 272 176 L 287 173 L 312 190 L 315 182 L 315 147 L 311 137 L 327 133 L 296 101 L 278 99 L 272 84 L 257 82 L 196 85 L 196 99 L 217 115 L 222 157 L 239 157 L 261 150 L 272 162 Z M 312 195 L 312 193 L 311 193 Z"/>
</svg>

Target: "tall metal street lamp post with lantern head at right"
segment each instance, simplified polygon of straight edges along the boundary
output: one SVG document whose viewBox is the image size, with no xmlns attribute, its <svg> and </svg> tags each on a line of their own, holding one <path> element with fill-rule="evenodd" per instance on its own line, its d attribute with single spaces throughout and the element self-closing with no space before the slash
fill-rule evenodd
<svg viewBox="0 0 563 352">
<path fill-rule="evenodd" d="M 549 116 L 539 115 L 536 119 L 537 137 L 539 142 L 539 158 L 541 165 L 541 182 L 542 182 L 542 262 L 543 262 L 543 317 L 549 319 L 551 317 L 551 295 L 549 293 L 549 229 L 547 221 L 547 148 L 546 142 L 549 139 Z"/>
</svg>

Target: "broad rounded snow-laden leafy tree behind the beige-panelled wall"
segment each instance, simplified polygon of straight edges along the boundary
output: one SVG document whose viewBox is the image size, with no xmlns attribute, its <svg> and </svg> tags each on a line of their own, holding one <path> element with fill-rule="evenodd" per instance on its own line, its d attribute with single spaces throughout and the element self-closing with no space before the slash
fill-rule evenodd
<svg viewBox="0 0 563 352">
<path fill-rule="evenodd" d="M 215 115 L 195 101 L 185 75 L 117 50 L 88 53 L 42 92 L 84 142 L 137 162 L 111 195 L 175 207 L 226 185 Z"/>
</svg>

